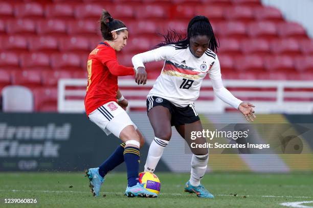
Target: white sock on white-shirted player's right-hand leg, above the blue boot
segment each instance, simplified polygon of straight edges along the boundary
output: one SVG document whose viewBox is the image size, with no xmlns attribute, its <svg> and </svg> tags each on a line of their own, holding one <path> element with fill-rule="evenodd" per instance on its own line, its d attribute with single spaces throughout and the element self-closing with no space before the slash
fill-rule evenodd
<svg viewBox="0 0 313 208">
<path fill-rule="evenodd" d="M 200 185 L 200 180 L 206 173 L 207 164 L 209 161 L 209 154 L 196 155 L 192 154 L 190 184 L 194 187 Z"/>
</svg>

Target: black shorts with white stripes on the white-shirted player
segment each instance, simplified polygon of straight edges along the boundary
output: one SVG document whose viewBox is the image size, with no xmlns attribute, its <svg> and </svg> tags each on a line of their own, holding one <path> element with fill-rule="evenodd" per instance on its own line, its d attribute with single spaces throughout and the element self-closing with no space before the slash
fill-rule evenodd
<svg viewBox="0 0 313 208">
<path fill-rule="evenodd" d="M 149 96 L 147 98 L 147 113 L 155 106 L 163 106 L 169 110 L 172 115 L 172 126 L 184 125 L 185 123 L 193 123 L 200 120 L 193 103 L 181 108 L 174 106 L 173 103 L 162 97 Z"/>
</svg>

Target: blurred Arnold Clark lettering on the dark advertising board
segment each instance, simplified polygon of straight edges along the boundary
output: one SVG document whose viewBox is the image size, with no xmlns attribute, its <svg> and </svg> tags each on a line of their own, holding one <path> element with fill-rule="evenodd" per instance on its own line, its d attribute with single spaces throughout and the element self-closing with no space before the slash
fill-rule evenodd
<svg viewBox="0 0 313 208">
<path fill-rule="evenodd" d="M 60 141 L 69 140 L 71 124 L 10 126 L 0 123 L 0 158 L 57 158 Z"/>
</svg>

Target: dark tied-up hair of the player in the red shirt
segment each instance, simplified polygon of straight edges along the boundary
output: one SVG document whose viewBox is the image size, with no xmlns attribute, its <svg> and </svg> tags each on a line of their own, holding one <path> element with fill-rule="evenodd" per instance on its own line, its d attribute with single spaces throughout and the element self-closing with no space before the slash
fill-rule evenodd
<svg viewBox="0 0 313 208">
<path fill-rule="evenodd" d="M 118 20 L 114 19 L 106 10 L 103 10 L 101 18 L 100 18 L 100 30 L 101 30 L 101 35 L 104 40 L 114 40 L 113 35 L 111 31 L 120 29 L 120 28 L 126 28 L 126 25 Z M 120 30 L 117 31 L 117 34 L 120 34 L 121 32 L 125 31 Z"/>
</svg>

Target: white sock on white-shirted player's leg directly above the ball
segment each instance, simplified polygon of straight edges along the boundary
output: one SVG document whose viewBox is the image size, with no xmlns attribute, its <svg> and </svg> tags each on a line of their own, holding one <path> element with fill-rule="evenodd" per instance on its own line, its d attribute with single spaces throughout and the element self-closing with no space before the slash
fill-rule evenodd
<svg viewBox="0 0 313 208">
<path fill-rule="evenodd" d="M 154 137 L 149 147 L 147 161 L 145 164 L 145 171 L 153 173 L 155 167 L 157 167 L 159 160 L 163 154 L 164 148 L 169 141 Z"/>
</svg>

